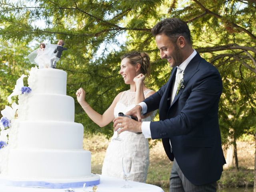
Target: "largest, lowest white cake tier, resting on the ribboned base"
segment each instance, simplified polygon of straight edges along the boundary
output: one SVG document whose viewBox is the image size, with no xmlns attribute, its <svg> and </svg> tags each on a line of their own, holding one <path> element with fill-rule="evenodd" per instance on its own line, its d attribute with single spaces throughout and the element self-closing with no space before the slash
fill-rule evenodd
<svg viewBox="0 0 256 192">
<path fill-rule="evenodd" d="M 91 174 L 91 152 L 85 150 L 10 151 L 8 176 L 21 178 L 79 178 Z"/>
</svg>

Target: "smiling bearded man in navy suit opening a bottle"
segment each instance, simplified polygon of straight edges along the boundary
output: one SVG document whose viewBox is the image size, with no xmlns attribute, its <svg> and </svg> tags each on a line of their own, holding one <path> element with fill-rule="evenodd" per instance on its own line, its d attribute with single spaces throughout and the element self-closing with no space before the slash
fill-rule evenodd
<svg viewBox="0 0 256 192">
<path fill-rule="evenodd" d="M 162 138 L 173 162 L 170 192 L 215 192 L 226 163 L 218 125 L 222 80 L 218 70 L 192 48 L 186 22 L 168 18 L 152 28 L 162 59 L 172 67 L 170 79 L 155 94 L 127 112 L 138 122 L 118 117 L 114 128 Z M 159 109 L 157 122 L 140 122 L 141 114 Z"/>
</svg>

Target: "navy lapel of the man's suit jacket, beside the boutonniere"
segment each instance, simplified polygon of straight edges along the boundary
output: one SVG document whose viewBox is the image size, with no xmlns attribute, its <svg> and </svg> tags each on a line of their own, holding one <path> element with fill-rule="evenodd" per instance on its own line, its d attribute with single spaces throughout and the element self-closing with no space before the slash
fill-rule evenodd
<svg viewBox="0 0 256 192">
<path fill-rule="evenodd" d="M 192 76 L 194 76 L 194 74 L 196 72 L 198 72 L 198 65 L 200 64 L 201 61 L 201 57 L 199 55 L 199 53 L 196 54 L 196 56 L 194 56 L 194 58 L 188 63 L 188 66 L 186 67 L 186 69 L 184 70 L 184 76 L 183 76 L 183 85 L 184 88 L 186 87 L 186 84 L 188 83 L 188 81 L 190 80 L 190 78 L 192 78 Z M 180 90 L 178 91 L 178 94 L 174 97 L 174 100 L 171 104 L 171 106 L 176 102 L 176 100 L 179 98 L 179 96 L 181 95 L 181 93 L 183 92 L 184 88 L 180 88 Z M 170 107 L 171 107 L 170 106 Z"/>
</svg>

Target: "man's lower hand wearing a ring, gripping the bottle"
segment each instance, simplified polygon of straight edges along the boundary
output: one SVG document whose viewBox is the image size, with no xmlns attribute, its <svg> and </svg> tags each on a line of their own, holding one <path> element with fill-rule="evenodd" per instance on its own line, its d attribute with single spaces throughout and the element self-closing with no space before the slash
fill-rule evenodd
<svg viewBox="0 0 256 192">
<path fill-rule="evenodd" d="M 141 131 L 141 124 L 142 122 L 135 121 L 128 117 L 117 117 L 113 120 L 115 131 L 122 127 L 118 133 L 122 133 L 123 131 L 130 131 L 134 133 L 142 132 Z"/>
</svg>

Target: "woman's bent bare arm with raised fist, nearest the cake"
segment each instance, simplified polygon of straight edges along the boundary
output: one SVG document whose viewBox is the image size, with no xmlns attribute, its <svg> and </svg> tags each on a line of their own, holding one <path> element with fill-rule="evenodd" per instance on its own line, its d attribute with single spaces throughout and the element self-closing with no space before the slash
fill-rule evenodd
<svg viewBox="0 0 256 192">
<path fill-rule="evenodd" d="M 120 99 L 120 95 L 122 92 L 120 92 L 113 100 L 112 104 L 109 106 L 109 108 L 101 115 L 98 112 L 96 112 L 86 101 L 85 101 L 85 91 L 83 88 L 79 88 L 76 91 L 76 98 L 78 103 L 82 106 L 86 114 L 89 116 L 89 118 L 96 123 L 100 127 L 104 127 L 112 120 L 114 119 L 114 108 L 116 106 L 116 103 Z"/>
</svg>

